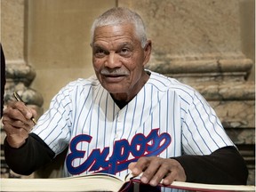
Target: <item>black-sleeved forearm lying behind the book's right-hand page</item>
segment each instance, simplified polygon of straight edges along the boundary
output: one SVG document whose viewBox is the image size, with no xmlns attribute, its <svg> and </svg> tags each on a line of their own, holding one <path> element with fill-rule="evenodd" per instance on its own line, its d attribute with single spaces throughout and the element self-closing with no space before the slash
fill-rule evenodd
<svg viewBox="0 0 256 192">
<path fill-rule="evenodd" d="M 248 170 L 235 147 L 220 148 L 209 156 L 173 157 L 183 166 L 188 182 L 246 184 Z"/>
</svg>

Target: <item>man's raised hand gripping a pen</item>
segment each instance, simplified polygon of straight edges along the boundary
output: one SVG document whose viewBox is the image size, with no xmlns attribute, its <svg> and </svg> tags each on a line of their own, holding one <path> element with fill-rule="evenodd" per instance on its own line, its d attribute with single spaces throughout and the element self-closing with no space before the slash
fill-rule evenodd
<svg viewBox="0 0 256 192">
<path fill-rule="evenodd" d="M 32 116 L 36 116 L 36 111 L 20 101 L 11 102 L 4 110 L 4 131 L 12 148 L 20 148 L 26 142 L 28 133 L 34 126 Z"/>
</svg>

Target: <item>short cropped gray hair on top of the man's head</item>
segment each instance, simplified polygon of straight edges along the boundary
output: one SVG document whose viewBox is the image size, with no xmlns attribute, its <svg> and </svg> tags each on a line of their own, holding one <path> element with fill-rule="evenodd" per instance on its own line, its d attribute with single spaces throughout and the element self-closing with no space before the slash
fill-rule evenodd
<svg viewBox="0 0 256 192">
<path fill-rule="evenodd" d="M 144 47 L 147 44 L 146 28 L 140 15 L 136 12 L 132 12 L 128 8 L 114 7 L 107 12 L 100 15 L 99 18 L 94 20 L 91 28 L 91 41 L 94 38 L 95 28 L 103 26 L 116 26 L 132 23 L 135 27 L 135 34 L 141 42 L 141 46 Z"/>
</svg>

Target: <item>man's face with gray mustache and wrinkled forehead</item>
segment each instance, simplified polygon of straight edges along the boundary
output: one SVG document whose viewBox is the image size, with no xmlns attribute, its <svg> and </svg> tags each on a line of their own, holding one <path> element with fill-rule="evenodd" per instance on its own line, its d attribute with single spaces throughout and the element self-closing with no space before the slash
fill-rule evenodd
<svg viewBox="0 0 256 192">
<path fill-rule="evenodd" d="M 134 34 L 132 24 L 96 28 L 92 42 L 92 63 L 100 84 L 115 94 L 137 94 L 145 84 L 146 48 Z"/>
</svg>

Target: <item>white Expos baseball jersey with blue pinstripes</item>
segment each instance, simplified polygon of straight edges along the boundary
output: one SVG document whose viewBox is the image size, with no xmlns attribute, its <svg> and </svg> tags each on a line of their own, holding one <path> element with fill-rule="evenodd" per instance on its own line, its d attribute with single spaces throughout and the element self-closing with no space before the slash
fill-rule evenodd
<svg viewBox="0 0 256 192">
<path fill-rule="evenodd" d="M 152 71 L 122 109 L 96 77 L 68 84 L 33 132 L 56 155 L 69 144 L 65 176 L 99 171 L 122 176 L 140 156 L 209 155 L 234 145 L 198 92 Z"/>
</svg>

